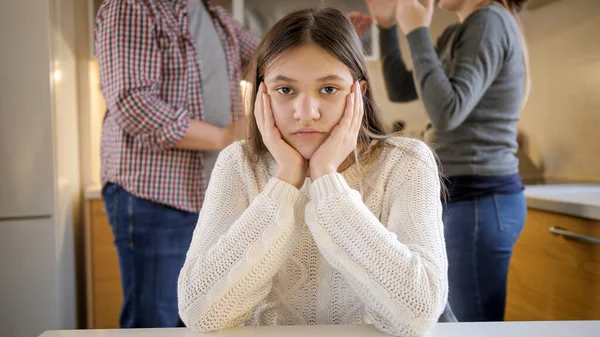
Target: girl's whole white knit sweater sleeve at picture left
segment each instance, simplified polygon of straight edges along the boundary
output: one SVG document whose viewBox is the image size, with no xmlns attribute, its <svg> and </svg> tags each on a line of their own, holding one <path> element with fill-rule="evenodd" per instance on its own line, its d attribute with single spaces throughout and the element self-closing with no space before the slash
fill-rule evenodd
<svg viewBox="0 0 600 337">
<path fill-rule="evenodd" d="M 247 321 L 297 245 L 307 198 L 272 178 L 253 200 L 240 143 L 219 155 L 178 280 L 186 326 L 215 331 Z"/>
</svg>

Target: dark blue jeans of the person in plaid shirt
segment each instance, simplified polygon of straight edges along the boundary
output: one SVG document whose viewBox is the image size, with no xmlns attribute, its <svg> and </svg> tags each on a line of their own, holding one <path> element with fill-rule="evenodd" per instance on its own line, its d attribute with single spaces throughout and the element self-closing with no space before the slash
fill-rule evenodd
<svg viewBox="0 0 600 337">
<path fill-rule="evenodd" d="M 121 270 L 120 326 L 183 326 L 177 310 L 177 278 L 198 213 L 135 197 L 116 184 L 107 184 L 102 196 Z"/>
</svg>

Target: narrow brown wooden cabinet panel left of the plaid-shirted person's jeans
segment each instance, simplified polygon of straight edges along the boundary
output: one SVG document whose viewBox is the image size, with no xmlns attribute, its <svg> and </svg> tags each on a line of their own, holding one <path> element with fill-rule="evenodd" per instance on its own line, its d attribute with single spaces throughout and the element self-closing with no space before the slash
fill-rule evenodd
<svg viewBox="0 0 600 337">
<path fill-rule="evenodd" d="M 91 256 L 91 291 L 88 313 L 89 328 L 110 329 L 119 327 L 119 313 L 123 303 L 117 251 L 108 224 L 104 203 L 90 200 L 89 252 Z"/>
</svg>

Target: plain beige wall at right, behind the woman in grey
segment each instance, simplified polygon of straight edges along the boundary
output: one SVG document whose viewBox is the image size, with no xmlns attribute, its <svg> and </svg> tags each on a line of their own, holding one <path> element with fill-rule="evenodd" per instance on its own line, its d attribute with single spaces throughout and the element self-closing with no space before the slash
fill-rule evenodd
<svg viewBox="0 0 600 337">
<path fill-rule="evenodd" d="M 520 128 L 546 178 L 600 181 L 600 1 L 525 13 L 533 87 Z"/>
</svg>

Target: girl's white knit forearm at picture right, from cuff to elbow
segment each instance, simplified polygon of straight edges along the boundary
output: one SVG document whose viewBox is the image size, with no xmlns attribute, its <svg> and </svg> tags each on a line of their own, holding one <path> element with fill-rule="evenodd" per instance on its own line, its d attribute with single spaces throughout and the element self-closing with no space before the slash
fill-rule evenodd
<svg viewBox="0 0 600 337">
<path fill-rule="evenodd" d="M 420 336 L 443 309 L 444 259 L 423 248 L 432 242 L 400 242 L 341 175 L 322 179 L 327 181 L 313 183 L 322 186 L 311 193 L 306 210 L 319 250 L 355 289 L 375 325 L 395 335 Z"/>
</svg>

